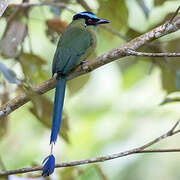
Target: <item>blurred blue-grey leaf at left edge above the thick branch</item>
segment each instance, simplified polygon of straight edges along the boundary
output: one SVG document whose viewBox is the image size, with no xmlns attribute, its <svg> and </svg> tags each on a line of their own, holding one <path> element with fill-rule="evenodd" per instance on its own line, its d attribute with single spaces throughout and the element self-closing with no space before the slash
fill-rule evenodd
<svg viewBox="0 0 180 180">
<path fill-rule="evenodd" d="M 8 80 L 8 82 L 18 85 L 21 84 L 21 82 L 16 77 L 16 73 L 13 70 L 7 68 L 2 62 L 0 62 L 0 71 L 6 80 Z"/>
</svg>

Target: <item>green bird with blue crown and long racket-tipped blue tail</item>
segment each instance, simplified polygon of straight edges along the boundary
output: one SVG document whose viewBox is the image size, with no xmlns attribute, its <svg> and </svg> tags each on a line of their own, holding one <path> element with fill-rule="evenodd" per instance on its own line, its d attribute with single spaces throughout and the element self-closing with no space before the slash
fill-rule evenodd
<svg viewBox="0 0 180 180">
<path fill-rule="evenodd" d="M 92 12 L 79 12 L 73 16 L 72 22 L 59 39 L 52 63 L 52 75 L 57 75 L 50 137 L 51 153 L 43 161 L 42 176 L 44 177 L 52 174 L 55 168 L 53 147 L 61 126 L 67 75 L 94 52 L 96 27 L 107 23 L 111 21 L 98 18 Z"/>
</svg>

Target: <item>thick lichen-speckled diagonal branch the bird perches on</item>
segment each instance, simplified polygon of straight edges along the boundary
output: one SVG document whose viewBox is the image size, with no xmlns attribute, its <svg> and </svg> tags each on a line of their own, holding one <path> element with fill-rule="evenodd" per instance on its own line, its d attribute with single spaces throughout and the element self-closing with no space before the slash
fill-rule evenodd
<svg viewBox="0 0 180 180">
<path fill-rule="evenodd" d="M 162 36 L 173 33 L 180 29 L 180 16 L 174 18 L 171 23 L 167 21 L 163 25 L 125 43 L 124 45 L 114 48 L 111 51 L 102 54 L 101 56 L 93 59 L 91 61 L 86 62 L 83 66 L 77 66 L 68 76 L 69 79 L 73 79 L 82 74 L 91 72 L 107 63 L 115 61 L 117 59 L 123 58 L 127 56 L 127 49 L 131 49 L 135 51 L 136 49 L 142 47 L 148 42 L 154 41 Z M 37 94 L 44 94 L 47 91 L 53 89 L 55 87 L 55 78 L 48 79 L 41 84 L 37 85 L 33 88 L 33 91 Z M 2 117 L 7 116 L 17 108 L 21 107 L 25 103 L 30 101 L 30 98 L 25 93 L 20 94 L 14 99 L 8 101 L 6 104 L 0 107 L 0 119 Z"/>
</svg>

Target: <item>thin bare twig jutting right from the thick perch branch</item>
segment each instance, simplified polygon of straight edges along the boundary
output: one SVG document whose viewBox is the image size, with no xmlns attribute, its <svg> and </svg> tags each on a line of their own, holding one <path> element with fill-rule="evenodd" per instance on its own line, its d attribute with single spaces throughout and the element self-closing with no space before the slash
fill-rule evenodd
<svg viewBox="0 0 180 180">
<path fill-rule="evenodd" d="M 180 57 L 180 53 L 145 53 L 137 52 L 131 49 L 125 49 L 127 56 L 145 56 L 145 57 Z"/>
</svg>

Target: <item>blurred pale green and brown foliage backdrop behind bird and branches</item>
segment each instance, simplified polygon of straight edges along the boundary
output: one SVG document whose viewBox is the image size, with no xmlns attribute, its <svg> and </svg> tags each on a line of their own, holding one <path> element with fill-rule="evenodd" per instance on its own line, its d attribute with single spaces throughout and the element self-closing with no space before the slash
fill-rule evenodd
<svg viewBox="0 0 180 180">
<path fill-rule="evenodd" d="M 22 2 L 43 3 L 44 0 Z M 0 120 L 0 157 L 8 169 L 41 164 L 47 154 L 54 92 L 37 96 L 31 87 L 51 77 L 56 44 L 72 19 L 71 10 L 84 11 L 82 6 L 87 3 L 97 16 L 112 21 L 108 25 L 110 31 L 102 28 L 97 33 L 99 55 L 169 20 L 179 5 L 178 0 L 49 2 L 53 5 L 21 7 L 11 4 L 0 19 L 1 104 L 24 91 L 31 99 L 30 103 Z M 54 6 L 62 2 L 68 8 Z M 13 3 L 20 3 L 20 0 Z M 179 52 L 179 33 L 146 44 L 139 51 Z M 11 84 L 17 81 L 22 84 Z M 172 120 L 180 116 L 178 58 L 126 57 L 91 75 L 68 81 L 67 87 L 59 133 L 62 136 L 59 139 L 66 143 L 57 142 L 57 162 L 136 147 L 147 142 L 147 137 L 169 129 Z M 176 95 L 171 96 L 174 92 Z M 160 104 L 164 106 L 157 106 Z M 179 145 L 177 135 L 161 147 Z M 150 180 L 158 177 L 177 180 L 178 161 L 177 155 L 139 155 L 104 164 L 58 169 L 54 176 L 46 179 L 144 180 L 146 177 Z M 40 173 L 9 177 L 10 180 L 24 178 L 41 179 Z"/>
</svg>

